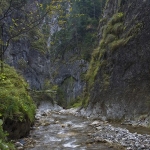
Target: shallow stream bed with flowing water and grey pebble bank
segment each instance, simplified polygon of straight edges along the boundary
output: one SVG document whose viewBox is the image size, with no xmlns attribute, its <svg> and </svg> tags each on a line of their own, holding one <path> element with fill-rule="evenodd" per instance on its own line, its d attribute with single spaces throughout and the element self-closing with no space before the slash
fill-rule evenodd
<svg viewBox="0 0 150 150">
<path fill-rule="evenodd" d="M 54 108 L 44 104 L 37 109 L 35 125 L 29 137 L 17 142 L 18 150 L 150 150 L 150 135 Z"/>
</svg>

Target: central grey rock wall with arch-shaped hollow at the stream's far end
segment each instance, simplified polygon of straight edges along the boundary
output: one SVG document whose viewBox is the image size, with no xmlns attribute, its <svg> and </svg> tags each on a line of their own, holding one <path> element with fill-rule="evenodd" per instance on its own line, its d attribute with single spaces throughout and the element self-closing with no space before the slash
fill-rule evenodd
<svg viewBox="0 0 150 150">
<path fill-rule="evenodd" d="M 65 105 L 75 100 L 83 92 L 85 81 L 84 74 L 88 63 L 78 58 L 73 51 L 66 52 L 63 59 L 58 59 L 51 66 L 51 78 L 62 91 Z"/>
</svg>

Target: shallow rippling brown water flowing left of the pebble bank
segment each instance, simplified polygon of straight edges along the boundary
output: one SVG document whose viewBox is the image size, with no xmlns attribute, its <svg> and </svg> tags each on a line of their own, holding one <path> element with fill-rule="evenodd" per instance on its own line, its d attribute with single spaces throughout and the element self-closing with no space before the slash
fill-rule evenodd
<svg viewBox="0 0 150 150">
<path fill-rule="evenodd" d="M 41 116 L 30 133 L 36 142 L 25 150 L 115 150 L 105 143 L 87 142 L 95 130 L 90 123 L 82 117 L 57 112 Z"/>
</svg>

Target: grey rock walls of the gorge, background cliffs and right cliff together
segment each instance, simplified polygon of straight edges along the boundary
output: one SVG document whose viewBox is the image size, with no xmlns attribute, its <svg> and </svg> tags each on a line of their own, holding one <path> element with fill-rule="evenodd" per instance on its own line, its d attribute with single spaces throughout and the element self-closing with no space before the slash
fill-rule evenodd
<svg viewBox="0 0 150 150">
<path fill-rule="evenodd" d="M 36 51 L 26 38 L 10 45 L 5 60 L 22 72 L 31 89 L 50 81 L 66 103 L 83 95 L 88 116 L 144 119 L 149 126 L 149 5 L 147 0 L 108 1 L 91 62 L 73 49 L 52 61 L 51 51 Z M 50 33 L 60 31 L 57 17 L 51 22 Z"/>
</svg>

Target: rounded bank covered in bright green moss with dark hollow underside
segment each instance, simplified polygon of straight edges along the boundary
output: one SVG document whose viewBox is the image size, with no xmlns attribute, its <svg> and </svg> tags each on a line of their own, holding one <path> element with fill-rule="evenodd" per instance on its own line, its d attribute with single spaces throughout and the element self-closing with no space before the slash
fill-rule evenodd
<svg viewBox="0 0 150 150">
<path fill-rule="evenodd" d="M 28 88 L 15 69 L 4 65 L 4 73 L 0 74 L 0 119 L 11 138 L 26 136 L 34 121 L 36 107 Z"/>
</svg>

